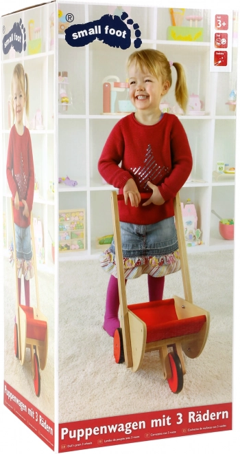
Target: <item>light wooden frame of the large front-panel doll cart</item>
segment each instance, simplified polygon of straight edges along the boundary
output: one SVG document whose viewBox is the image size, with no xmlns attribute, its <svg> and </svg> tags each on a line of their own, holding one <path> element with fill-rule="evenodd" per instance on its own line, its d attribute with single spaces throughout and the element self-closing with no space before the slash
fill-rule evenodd
<svg viewBox="0 0 240 454">
<path fill-rule="evenodd" d="M 145 352 L 158 350 L 163 367 L 163 376 L 165 379 L 171 378 L 169 349 L 173 349 L 180 358 L 182 373 L 185 374 L 186 369 L 182 352 L 189 356 L 189 358 L 196 358 L 202 353 L 208 336 L 210 315 L 201 307 L 193 305 L 189 264 L 187 261 L 187 248 L 184 239 L 182 210 L 180 206 L 180 195 L 179 193 L 176 195 L 173 201 L 173 206 L 176 220 L 176 230 L 178 235 L 178 248 L 180 252 L 184 299 L 180 298 L 179 296 L 173 296 L 175 310 L 179 320 L 182 318 L 204 315 L 206 316 L 206 323 L 204 323 L 202 329 L 200 329 L 200 332 L 197 332 L 195 334 L 177 336 L 149 343 L 146 343 L 147 327 L 144 321 L 136 316 L 136 314 L 134 314 L 130 310 L 130 307 L 128 307 L 127 305 L 123 270 L 123 254 L 121 248 L 121 230 L 119 224 L 119 210 L 117 202 L 118 198 L 122 197 L 123 196 L 117 196 L 116 191 L 112 191 L 112 224 L 114 228 L 116 263 L 119 283 L 120 324 L 123 334 L 123 349 L 126 367 L 131 367 L 133 372 L 138 371 L 143 363 Z"/>
</svg>

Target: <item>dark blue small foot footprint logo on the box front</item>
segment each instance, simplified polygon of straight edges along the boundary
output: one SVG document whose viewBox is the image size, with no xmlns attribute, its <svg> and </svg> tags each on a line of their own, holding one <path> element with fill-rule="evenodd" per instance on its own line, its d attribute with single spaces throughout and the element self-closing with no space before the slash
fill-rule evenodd
<svg viewBox="0 0 240 454">
<path fill-rule="evenodd" d="M 131 31 L 128 25 L 132 25 L 134 29 L 134 47 L 138 49 L 142 43 L 139 24 L 128 19 L 126 12 L 123 12 L 121 17 L 105 14 L 97 21 L 71 25 L 65 30 L 65 41 L 72 47 L 82 47 L 97 39 L 110 47 L 120 47 L 125 50 L 131 45 Z"/>
</svg>

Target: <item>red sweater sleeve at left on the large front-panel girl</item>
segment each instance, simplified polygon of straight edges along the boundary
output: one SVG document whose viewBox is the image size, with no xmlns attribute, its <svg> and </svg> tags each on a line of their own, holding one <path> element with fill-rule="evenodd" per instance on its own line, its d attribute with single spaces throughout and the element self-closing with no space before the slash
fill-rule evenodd
<svg viewBox="0 0 240 454">
<path fill-rule="evenodd" d="M 124 137 L 119 122 L 110 132 L 98 162 L 98 171 L 108 184 L 123 188 L 132 175 L 119 166 L 123 159 Z"/>
</svg>

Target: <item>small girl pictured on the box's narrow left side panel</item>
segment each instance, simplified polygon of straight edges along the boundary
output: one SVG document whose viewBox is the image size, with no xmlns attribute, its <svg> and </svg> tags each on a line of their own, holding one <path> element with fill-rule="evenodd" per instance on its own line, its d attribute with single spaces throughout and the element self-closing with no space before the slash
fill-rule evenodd
<svg viewBox="0 0 240 454">
<path fill-rule="evenodd" d="M 34 160 L 29 130 L 23 125 L 24 111 L 28 115 L 29 110 L 29 83 L 21 63 L 14 67 L 11 101 L 14 125 L 8 142 L 7 178 L 13 201 L 19 304 L 23 274 L 25 304 L 29 305 L 29 279 L 33 277 L 30 213 L 34 199 Z"/>
</svg>

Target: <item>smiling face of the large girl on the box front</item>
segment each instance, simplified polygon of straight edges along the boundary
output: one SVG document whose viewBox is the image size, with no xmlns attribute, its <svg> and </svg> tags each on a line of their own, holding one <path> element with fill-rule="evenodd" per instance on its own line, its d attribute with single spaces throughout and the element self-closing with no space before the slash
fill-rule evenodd
<svg viewBox="0 0 240 454">
<path fill-rule="evenodd" d="M 147 69 L 141 70 L 132 63 L 129 67 L 129 95 L 137 110 L 151 114 L 159 110 L 160 100 L 167 93 L 170 83 L 162 78 L 149 74 Z"/>
</svg>

